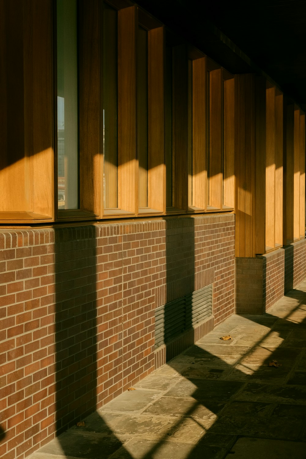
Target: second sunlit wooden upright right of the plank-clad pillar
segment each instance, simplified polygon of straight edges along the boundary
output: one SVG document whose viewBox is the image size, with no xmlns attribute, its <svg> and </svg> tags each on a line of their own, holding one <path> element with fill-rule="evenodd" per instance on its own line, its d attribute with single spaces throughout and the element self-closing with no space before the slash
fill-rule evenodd
<svg viewBox="0 0 306 459">
<path fill-rule="evenodd" d="M 275 244 L 283 243 L 283 95 L 275 97 Z"/>
</svg>

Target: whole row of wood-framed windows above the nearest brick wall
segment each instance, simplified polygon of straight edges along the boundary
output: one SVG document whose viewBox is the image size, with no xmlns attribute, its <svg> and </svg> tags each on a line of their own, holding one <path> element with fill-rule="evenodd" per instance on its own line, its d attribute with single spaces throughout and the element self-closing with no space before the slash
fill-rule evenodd
<svg viewBox="0 0 306 459">
<path fill-rule="evenodd" d="M 128 1 L 29 8 L 4 47 L 3 221 L 232 209 L 231 76 Z"/>
</svg>

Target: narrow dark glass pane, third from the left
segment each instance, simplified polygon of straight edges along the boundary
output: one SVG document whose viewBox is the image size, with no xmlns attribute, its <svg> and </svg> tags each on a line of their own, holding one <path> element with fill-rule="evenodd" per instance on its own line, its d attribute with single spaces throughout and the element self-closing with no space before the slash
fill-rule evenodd
<svg viewBox="0 0 306 459">
<path fill-rule="evenodd" d="M 137 40 L 138 202 L 148 207 L 148 32 L 138 28 Z"/>
</svg>

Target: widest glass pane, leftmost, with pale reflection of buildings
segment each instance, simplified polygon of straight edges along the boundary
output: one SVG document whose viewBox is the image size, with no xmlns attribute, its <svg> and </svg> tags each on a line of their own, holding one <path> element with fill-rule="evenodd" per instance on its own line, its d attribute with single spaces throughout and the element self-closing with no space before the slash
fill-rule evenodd
<svg viewBox="0 0 306 459">
<path fill-rule="evenodd" d="M 57 0 L 58 208 L 78 209 L 77 3 Z"/>
</svg>

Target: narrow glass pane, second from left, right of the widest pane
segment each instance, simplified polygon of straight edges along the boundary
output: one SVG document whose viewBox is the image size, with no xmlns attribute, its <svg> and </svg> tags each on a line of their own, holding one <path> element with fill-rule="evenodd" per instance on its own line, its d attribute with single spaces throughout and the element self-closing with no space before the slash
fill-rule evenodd
<svg viewBox="0 0 306 459">
<path fill-rule="evenodd" d="M 118 207 L 117 11 L 103 8 L 103 165 L 104 208 Z"/>
</svg>

